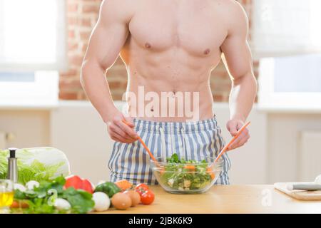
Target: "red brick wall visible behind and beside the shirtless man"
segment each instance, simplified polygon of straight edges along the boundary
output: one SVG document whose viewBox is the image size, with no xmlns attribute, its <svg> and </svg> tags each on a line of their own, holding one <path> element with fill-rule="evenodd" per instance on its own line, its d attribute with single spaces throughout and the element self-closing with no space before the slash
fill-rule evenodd
<svg viewBox="0 0 321 228">
<path fill-rule="evenodd" d="M 61 100 L 85 100 L 86 95 L 79 83 L 81 62 L 86 51 L 88 38 L 98 18 L 101 0 L 66 0 L 68 23 L 68 59 L 69 68 L 60 73 L 59 98 Z M 250 18 L 251 0 L 240 0 Z M 251 21 L 251 20 L 250 20 Z M 251 24 L 251 23 L 250 23 Z M 254 63 L 255 75 L 258 76 L 258 63 Z M 228 100 L 230 78 L 223 64 L 215 69 L 210 78 L 213 98 L 216 102 Z M 114 100 L 121 100 L 126 90 L 127 76 L 123 62 L 118 58 L 107 73 L 107 80 Z"/>
</svg>

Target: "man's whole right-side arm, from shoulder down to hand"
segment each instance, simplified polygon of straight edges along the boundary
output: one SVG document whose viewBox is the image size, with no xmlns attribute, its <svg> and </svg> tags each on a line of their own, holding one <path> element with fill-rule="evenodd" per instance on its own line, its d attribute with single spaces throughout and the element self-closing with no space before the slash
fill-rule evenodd
<svg viewBox="0 0 321 228">
<path fill-rule="evenodd" d="M 227 66 L 232 79 L 230 91 L 230 120 L 227 128 L 231 135 L 236 135 L 245 123 L 253 107 L 258 90 L 257 82 L 253 74 L 253 61 L 248 46 L 248 18 L 243 7 L 234 1 L 231 4 L 230 19 L 228 24 L 228 36 L 221 49 L 224 53 L 223 61 Z M 238 140 L 235 140 L 229 150 L 240 147 L 250 138 L 248 130 L 245 130 Z"/>
</svg>

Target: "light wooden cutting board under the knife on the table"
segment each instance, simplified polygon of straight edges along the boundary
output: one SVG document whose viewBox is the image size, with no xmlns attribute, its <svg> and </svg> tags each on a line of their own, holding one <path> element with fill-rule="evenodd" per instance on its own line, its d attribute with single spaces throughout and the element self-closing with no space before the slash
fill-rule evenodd
<svg viewBox="0 0 321 228">
<path fill-rule="evenodd" d="M 321 190 L 318 191 L 302 191 L 302 190 L 287 190 L 287 185 L 291 183 L 275 183 L 275 189 L 299 200 L 321 200 Z"/>
</svg>

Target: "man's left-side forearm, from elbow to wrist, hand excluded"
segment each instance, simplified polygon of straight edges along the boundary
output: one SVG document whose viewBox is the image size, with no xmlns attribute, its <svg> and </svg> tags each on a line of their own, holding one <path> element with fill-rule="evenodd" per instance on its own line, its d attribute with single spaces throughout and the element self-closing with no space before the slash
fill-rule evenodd
<svg viewBox="0 0 321 228">
<path fill-rule="evenodd" d="M 101 66 L 97 63 L 85 61 L 81 68 L 81 85 L 103 121 L 105 123 L 110 121 L 117 108 L 113 103 L 108 82 Z"/>
</svg>

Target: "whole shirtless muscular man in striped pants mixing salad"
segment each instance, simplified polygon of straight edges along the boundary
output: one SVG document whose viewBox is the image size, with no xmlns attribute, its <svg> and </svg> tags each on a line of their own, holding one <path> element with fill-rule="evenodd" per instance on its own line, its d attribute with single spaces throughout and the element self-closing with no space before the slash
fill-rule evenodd
<svg viewBox="0 0 321 228">
<path fill-rule="evenodd" d="M 143 135 L 153 152 L 163 157 L 178 152 L 176 150 L 182 151 L 178 153 L 185 157 L 217 154 L 224 141 L 213 119 L 209 80 L 210 72 L 222 56 L 232 79 L 227 128 L 231 135 L 237 133 L 250 113 L 257 90 L 247 37 L 248 19 L 242 6 L 234 0 L 103 1 L 83 60 L 81 83 L 108 124 L 109 135 L 116 141 L 109 162 L 113 180 L 153 182 L 146 152 L 136 141 L 137 134 Z M 127 115 L 113 104 L 105 77 L 106 69 L 119 54 L 128 71 Z M 149 100 L 140 98 L 140 90 L 146 97 L 153 95 Z M 168 95 L 167 103 L 163 103 L 162 93 Z M 191 95 L 183 97 L 183 106 L 180 106 L 180 95 L 185 93 Z M 159 96 L 159 102 L 154 99 L 151 103 L 155 95 Z M 208 140 L 195 128 L 188 127 L 191 116 L 185 109 L 180 110 L 186 105 L 192 110 L 193 126 L 202 129 L 211 126 L 213 135 L 208 136 Z M 170 113 L 170 108 L 175 111 Z M 141 125 L 145 129 L 157 129 L 145 134 Z M 180 129 L 190 129 L 175 134 L 183 135 L 182 138 L 191 134 L 195 142 L 168 137 L 169 128 L 178 125 Z M 164 131 L 163 128 L 168 132 L 157 137 L 158 130 Z M 244 145 L 249 138 L 245 130 L 229 149 Z M 157 146 L 158 142 L 163 149 Z M 228 157 L 224 162 L 229 163 Z M 228 169 L 225 167 L 224 171 Z M 228 178 L 222 177 L 218 182 L 227 184 Z"/>
</svg>

